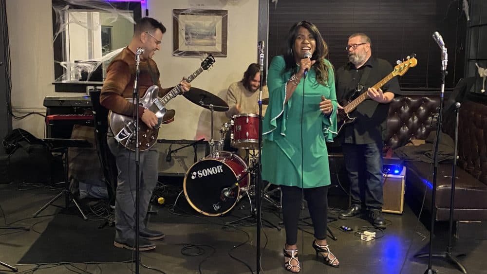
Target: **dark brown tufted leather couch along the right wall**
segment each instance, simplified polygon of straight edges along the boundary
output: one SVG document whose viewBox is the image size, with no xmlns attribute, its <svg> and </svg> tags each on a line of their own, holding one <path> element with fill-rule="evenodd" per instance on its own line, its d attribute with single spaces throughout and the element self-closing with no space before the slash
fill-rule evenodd
<svg viewBox="0 0 487 274">
<path fill-rule="evenodd" d="M 458 160 L 454 219 L 487 220 L 487 105 L 473 98 L 462 102 L 459 115 Z M 402 95 L 394 98 L 388 117 L 385 146 L 397 148 L 410 139 L 426 139 L 436 130 L 440 98 L 438 95 Z M 454 115 L 444 117 L 443 131 L 454 139 Z M 339 152 L 331 149 L 331 165 L 342 166 Z M 337 164 L 337 162 L 339 164 Z M 433 165 L 405 162 L 406 194 L 409 202 L 421 206 L 426 190 L 425 210 L 430 211 Z M 333 170 L 333 168 L 332 168 Z M 435 208 L 437 220 L 448 220 L 450 213 L 452 163 L 438 165 Z"/>
</svg>

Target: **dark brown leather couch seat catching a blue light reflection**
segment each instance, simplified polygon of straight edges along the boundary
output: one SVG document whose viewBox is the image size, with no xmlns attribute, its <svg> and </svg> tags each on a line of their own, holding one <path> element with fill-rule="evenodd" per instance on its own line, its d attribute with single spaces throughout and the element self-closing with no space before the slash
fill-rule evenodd
<svg viewBox="0 0 487 274">
<path fill-rule="evenodd" d="M 436 177 L 436 208 L 450 208 L 452 164 L 439 164 Z M 431 189 L 433 183 L 433 165 L 419 161 L 407 162 L 406 182 L 408 191 L 415 191 L 422 199 L 425 187 L 426 205 L 431 204 Z M 456 168 L 455 204 L 458 209 L 487 209 L 487 186 L 462 168 Z"/>
</svg>

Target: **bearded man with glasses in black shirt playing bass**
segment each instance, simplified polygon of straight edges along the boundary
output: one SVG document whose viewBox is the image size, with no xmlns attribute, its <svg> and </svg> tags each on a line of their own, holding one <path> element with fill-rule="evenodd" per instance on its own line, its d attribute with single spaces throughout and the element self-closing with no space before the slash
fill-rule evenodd
<svg viewBox="0 0 487 274">
<path fill-rule="evenodd" d="M 353 218 L 368 212 L 370 222 L 385 228 L 382 215 L 382 147 L 386 132 L 389 103 L 399 93 L 394 77 L 383 86 L 373 87 L 393 71 L 389 62 L 372 57 L 372 43 L 363 33 L 348 38 L 346 47 L 350 62 L 337 70 L 337 99 L 342 106 L 356 95 L 367 92 L 368 99 L 359 104 L 350 116 L 354 123 L 346 125 L 337 138 L 343 143 L 345 167 L 351 185 L 352 206 L 342 212 L 340 219 Z"/>
</svg>

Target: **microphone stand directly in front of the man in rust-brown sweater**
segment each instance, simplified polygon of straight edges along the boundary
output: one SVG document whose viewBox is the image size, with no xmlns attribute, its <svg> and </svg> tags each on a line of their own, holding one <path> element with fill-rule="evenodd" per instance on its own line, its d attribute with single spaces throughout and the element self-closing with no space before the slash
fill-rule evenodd
<svg viewBox="0 0 487 274">
<path fill-rule="evenodd" d="M 135 274 L 139 274 L 139 211 L 140 211 L 140 147 L 139 147 L 139 73 L 140 55 L 144 50 L 138 48 L 135 53 L 135 80 L 133 81 L 132 98 L 135 101 Z M 132 101 L 133 102 L 133 101 Z"/>
</svg>

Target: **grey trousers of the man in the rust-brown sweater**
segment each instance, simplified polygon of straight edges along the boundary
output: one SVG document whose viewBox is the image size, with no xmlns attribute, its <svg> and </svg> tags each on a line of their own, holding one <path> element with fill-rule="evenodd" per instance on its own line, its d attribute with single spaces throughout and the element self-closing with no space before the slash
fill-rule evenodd
<svg viewBox="0 0 487 274">
<path fill-rule="evenodd" d="M 123 146 L 113 138 L 113 134 L 107 134 L 107 143 L 110 151 L 115 156 L 118 177 L 115 201 L 115 240 L 127 240 L 135 237 L 135 152 Z M 144 219 L 149 208 L 152 190 L 157 184 L 159 176 L 158 160 L 159 152 L 155 146 L 140 152 L 140 212 L 139 231 L 145 230 Z"/>
</svg>

